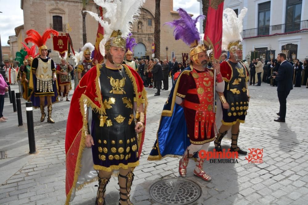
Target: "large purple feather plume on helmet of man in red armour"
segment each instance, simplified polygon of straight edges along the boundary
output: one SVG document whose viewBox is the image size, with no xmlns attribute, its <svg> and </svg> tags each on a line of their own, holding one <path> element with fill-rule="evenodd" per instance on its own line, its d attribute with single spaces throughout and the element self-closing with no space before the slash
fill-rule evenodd
<svg viewBox="0 0 308 205">
<path fill-rule="evenodd" d="M 199 15 L 197 18 L 193 19 L 184 9 L 179 8 L 177 11 L 179 12 L 180 18 L 165 23 L 169 26 L 175 27 L 173 31 L 175 40 L 182 39 L 182 41 L 187 45 L 192 44 L 195 40 L 200 41 L 200 34 L 196 23 L 199 18 L 204 19 L 205 16 Z"/>
</svg>

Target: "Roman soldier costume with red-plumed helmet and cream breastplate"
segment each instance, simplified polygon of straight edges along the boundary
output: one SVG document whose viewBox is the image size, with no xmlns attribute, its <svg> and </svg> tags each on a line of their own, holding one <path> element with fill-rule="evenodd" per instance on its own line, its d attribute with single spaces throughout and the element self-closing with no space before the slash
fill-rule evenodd
<svg viewBox="0 0 308 205">
<path fill-rule="evenodd" d="M 46 30 L 41 36 L 36 30 L 28 30 L 26 32 L 27 36 L 25 42 L 32 42 L 39 47 L 39 53 L 41 54 L 42 49 L 48 49 L 45 45 L 50 34 L 59 35 L 55 30 Z M 35 71 L 35 75 L 32 72 Z M 51 97 L 51 103 L 58 101 L 58 84 L 57 81 L 53 81 L 56 77 L 54 61 L 50 58 L 43 59 L 41 57 L 36 57 L 33 59 L 30 70 L 30 82 L 29 88 L 32 90 L 29 101 L 32 102 L 34 108 L 40 107 L 41 109 L 41 122 L 45 120 L 45 106 L 47 105 L 48 117 L 47 122 L 55 123 L 51 118 L 52 105 L 47 104 L 47 97 Z M 44 105 L 40 105 L 40 97 L 45 97 Z"/>
</svg>

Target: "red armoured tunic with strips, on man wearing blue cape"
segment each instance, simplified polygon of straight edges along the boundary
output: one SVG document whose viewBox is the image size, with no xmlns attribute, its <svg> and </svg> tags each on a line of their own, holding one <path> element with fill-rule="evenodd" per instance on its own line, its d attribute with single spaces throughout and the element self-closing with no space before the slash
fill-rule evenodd
<svg viewBox="0 0 308 205">
<path fill-rule="evenodd" d="M 188 137 L 192 144 L 204 144 L 214 140 L 215 113 L 213 112 L 212 70 L 184 71 L 179 79 L 176 95 L 184 98 L 184 115 Z"/>
</svg>

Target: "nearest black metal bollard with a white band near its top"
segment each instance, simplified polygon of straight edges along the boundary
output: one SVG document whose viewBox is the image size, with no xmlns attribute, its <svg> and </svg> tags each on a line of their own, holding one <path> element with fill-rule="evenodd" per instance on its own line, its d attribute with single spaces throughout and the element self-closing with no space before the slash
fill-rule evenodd
<svg viewBox="0 0 308 205">
<path fill-rule="evenodd" d="M 32 102 L 26 102 L 26 112 L 27 112 L 27 126 L 28 126 L 28 138 L 29 138 L 29 148 L 30 154 L 36 153 L 35 149 L 35 139 L 34 139 L 34 124 L 33 124 L 33 108 Z"/>
</svg>

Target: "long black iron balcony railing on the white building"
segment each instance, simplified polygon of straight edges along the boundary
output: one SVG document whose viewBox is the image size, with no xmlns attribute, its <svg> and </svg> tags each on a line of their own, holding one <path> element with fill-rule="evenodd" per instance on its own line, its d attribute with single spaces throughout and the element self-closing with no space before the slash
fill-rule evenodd
<svg viewBox="0 0 308 205">
<path fill-rule="evenodd" d="M 308 32 L 308 20 L 243 30 L 243 39 Z"/>
</svg>

